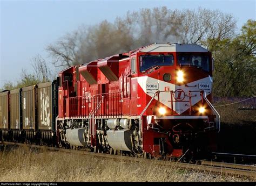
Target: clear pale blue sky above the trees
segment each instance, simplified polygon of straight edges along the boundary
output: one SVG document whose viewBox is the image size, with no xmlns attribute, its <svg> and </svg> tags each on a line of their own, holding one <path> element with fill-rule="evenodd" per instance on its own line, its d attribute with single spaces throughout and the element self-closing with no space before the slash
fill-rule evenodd
<svg viewBox="0 0 256 186">
<path fill-rule="evenodd" d="M 5 82 L 16 83 L 22 69 L 32 73 L 31 59 L 40 54 L 50 63 L 45 47 L 81 25 L 113 22 L 127 11 L 167 6 L 168 9 L 219 9 L 230 13 L 241 28 L 256 18 L 256 1 L 3 1 L 0 0 L 0 88 Z"/>
</svg>

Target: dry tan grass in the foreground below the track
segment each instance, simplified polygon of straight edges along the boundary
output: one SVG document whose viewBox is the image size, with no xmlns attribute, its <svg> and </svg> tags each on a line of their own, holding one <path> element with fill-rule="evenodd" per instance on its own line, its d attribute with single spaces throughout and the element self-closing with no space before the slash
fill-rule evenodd
<svg viewBox="0 0 256 186">
<path fill-rule="evenodd" d="M 35 152 L 20 147 L 0 154 L 0 182 L 215 182 L 253 178 L 202 173 L 160 166 L 156 161 L 115 161 L 61 152 Z"/>
</svg>

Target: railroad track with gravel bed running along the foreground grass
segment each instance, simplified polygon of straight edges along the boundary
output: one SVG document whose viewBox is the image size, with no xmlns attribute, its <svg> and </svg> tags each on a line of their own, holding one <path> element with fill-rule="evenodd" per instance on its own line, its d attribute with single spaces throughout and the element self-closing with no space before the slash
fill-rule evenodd
<svg viewBox="0 0 256 186">
<path fill-rule="evenodd" d="M 57 148 L 57 147 L 19 144 L 19 143 L 15 143 L 15 142 L 3 141 L 2 145 L 27 146 L 27 147 L 32 147 L 32 148 L 48 149 L 50 151 L 76 153 L 76 154 L 83 154 L 83 155 L 87 155 L 87 156 L 95 156 L 95 157 L 99 157 L 99 158 L 109 158 L 109 159 L 115 159 L 115 160 L 140 161 L 140 162 L 145 161 L 145 163 L 149 163 L 150 161 L 152 161 L 149 159 L 134 158 L 134 157 L 123 156 L 123 155 L 92 153 L 92 152 L 87 152 L 87 151 L 76 151 L 76 150 Z M 181 162 L 164 161 L 164 160 L 154 160 L 154 161 L 157 161 L 157 163 L 161 164 L 161 165 L 165 165 L 165 166 L 170 165 L 173 168 L 196 169 L 196 170 L 209 171 L 209 172 L 215 172 L 215 173 L 220 173 L 220 174 L 235 174 L 235 175 L 256 177 L 256 166 L 251 166 L 251 165 L 214 162 L 214 161 L 200 161 L 200 164 L 181 163 Z"/>
</svg>

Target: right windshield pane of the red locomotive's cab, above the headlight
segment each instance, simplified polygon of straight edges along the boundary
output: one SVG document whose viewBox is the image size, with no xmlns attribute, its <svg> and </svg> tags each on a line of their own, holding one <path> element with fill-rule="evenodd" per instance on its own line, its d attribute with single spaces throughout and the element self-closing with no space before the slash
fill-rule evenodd
<svg viewBox="0 0 256 186">
<path fill-rule="evenodd" d="M 205 55 L 179 55 L 178 62 L 180 65 L 191 65 L 210 70 L 209 57 Z"/>
</svg>

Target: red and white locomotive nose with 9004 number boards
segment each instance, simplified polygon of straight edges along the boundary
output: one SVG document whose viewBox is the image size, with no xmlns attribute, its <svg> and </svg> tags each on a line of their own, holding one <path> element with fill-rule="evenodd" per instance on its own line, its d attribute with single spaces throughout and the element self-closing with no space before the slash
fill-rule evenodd
<svg viewBox="0 0 256 186">
<path fill-rule="evenodd" d="M 168 67 L 165 67 L 165 71 Z M 156 70 L 153 74 L 139 77 L 138 83 L 142 86 L 144 92 L 149 95 L 145 102 L 149 103 L 154 97 L 160 103 L 157 113 L 165 115 L 187 115 L 190 114 L 191 107 L 201 101 L 201 92 L 205 91 L 206 95 L 211 93 L 212 77 L 194 67 L 182 67 L 177 69 L 170 68 L 170 76 Z M 159 74 L 155 76 L 154 74 Z M 152 76 L 152 77 L 151 77 Z M 156 77 L 156 78 L 154 78 Z M 167 77 L 171 77 L 167 81 Z M 164 109 L 163 109 L 164 108 Z M 200 109 L 199 113 L 205 111 Z"/>
</svg>

